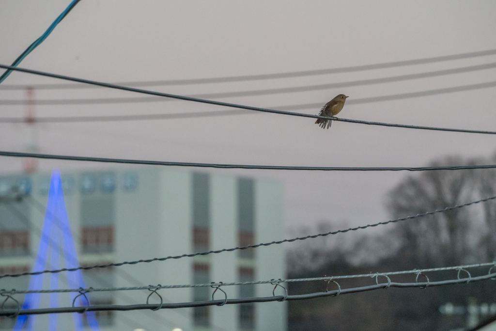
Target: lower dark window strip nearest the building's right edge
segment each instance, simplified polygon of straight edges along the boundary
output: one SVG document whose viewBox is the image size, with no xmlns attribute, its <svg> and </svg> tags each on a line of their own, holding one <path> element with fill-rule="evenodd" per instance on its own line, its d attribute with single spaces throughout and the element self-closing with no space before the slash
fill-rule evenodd
<svg viewBox="0 0 496 331">
<path fill-rule="evenodd" d="M 255 270 L 251 267 L 240 267 L 238 270 L 240 281 L 253 281 Z M 255 296 L 254 285 L 240 285 L 240 298 L 251 298 Z M 240 330 L 254 330 L 255 328 L 255 305 L 254 303 L 243 303 L 239 306 Z"/>
</svg>

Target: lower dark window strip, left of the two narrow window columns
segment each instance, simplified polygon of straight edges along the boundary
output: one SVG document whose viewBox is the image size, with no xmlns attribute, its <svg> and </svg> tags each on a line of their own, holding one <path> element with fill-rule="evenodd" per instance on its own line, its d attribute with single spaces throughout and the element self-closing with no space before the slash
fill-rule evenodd
<svg viewBox="0 0 496 331">
<path fill-rule="evenodd" d="M 207 264 L 193 265 L 193 283 L 208 284 L 210 283 L 210 267 Z M 193 287 L 193 301 L 210 300 L 209 287 Z M 193 324 L 195 326 L 208 327 L 210 325 L 210 307 L 193 308 Z"/>
</svg>

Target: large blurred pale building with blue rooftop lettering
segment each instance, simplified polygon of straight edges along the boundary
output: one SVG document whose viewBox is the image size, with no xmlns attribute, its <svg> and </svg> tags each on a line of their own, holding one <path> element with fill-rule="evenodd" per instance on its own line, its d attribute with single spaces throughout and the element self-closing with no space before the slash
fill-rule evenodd
<svg viewBox="0 0 496 331">
<path fill-rule="evenodd" d="M 62 173 L 80 265 L 178 256 L 283 238 L 282 189 L 276 182 L 152 168 Z M 31 271 L 40 242 L 50 174 L 0 176 L 0 274 Z M 127 287 L 284 278 L 281 245 L 83 271 L 86 287 Z M 60 288 L 67 287 L 60 277 Z M 26 289 L 29 276 L 1 278 Z M 45 286 L 48 288 L 48 285 Z M 273 286 L 224 286 L 229 298 L 271 296 Z M 162 289 L 164 302 L 211 300 L 210 287 Z M 215 293 L 215 299 L 224 294 Z M 92 305 L 143 304 L 150 292 L 93 292 Z M 16 296 L 22 302 L 23 297 Z M 46 304 L 43 304 L 43 300 Z M 150 302 L 158 302 L 153 294 Z M 68 299 L 60 306 L 70 305 Z M 48 307 L 42 296 L 40 308 Z M 7 307 L 11 308 L 11 307 Z M 63 330 L 73 330 L 70 314 Z M 100 330 L 286 330 L 286 303 L 177 310 L 98 312 Z M 40 316 L 40 323 L 44 317 Z M 63 322 L 66 321 L 66 322 Z M 1 330 L 15 321 L 0 319 Z M 47 324 L 48 326 L 48 324 Z M 59 328 L 60 329 L 60 328 Z M 62 329 L 60 329 L 62 330 Z"/>
</svg>

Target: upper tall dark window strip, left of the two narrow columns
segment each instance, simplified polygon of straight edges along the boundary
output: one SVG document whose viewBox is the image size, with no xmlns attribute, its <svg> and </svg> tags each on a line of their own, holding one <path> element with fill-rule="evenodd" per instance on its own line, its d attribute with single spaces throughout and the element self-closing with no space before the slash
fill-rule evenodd
<svg viewBox="0 0 496 331">
<path fill-rule="evenodd" d="M 210 180 L 208 174 L 193 173 L 193 250 L 207 251 L 210 247 Z"/>
</svg>

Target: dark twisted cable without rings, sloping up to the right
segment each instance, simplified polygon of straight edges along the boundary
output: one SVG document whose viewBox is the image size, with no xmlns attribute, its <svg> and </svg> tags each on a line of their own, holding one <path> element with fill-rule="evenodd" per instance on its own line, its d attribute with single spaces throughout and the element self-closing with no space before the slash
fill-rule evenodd
<svg viewBox="0 0 496 331">
<path fill-rule="evenodd" d="M 244 247 L 235 247 L 235 248 L 229 248 L 229 249 L 224 248 L 224 249 L 217 250 L 217 251 L 208 251 L 208 252 L 194 253 L 194 254 L 183 254 L 183 255 L 177 255 L 177 256 L 168 256 L 168 257 L 165 257 L 165 258 L 154 258 L 154 259 L 149 259 L 149 260 L 138 260 L 138 261 L 121 262 L 121 263 L 109 263 L 109 264 L 106 264 L 106 265 L 91 265 L 91 266 L 84 266 L 84 267 L 83 266 L 80 266 L 80 267 L 77 267 L 77 268 L 62 268 L 62 269 L 57 269 L 57 270 L 44 270 L 44 271 L 38 271 L 38 272 L 24 272 L 24 273 L 17 273 L 17 274 L 3 274 L 3 275 L 0 275 L 0 278 L 4 278 L 4 277 L 20 277 L 20 276 L 27 276 L 27 275 L 37 275 L 37 274 L 42 274 L 42 273 L 58 273 L 58 272 L 62 272 L 62 271 L 76 271 L 76 270 L 79 270 L 79 269 L 90 270 L 90 269 L 94 269 L 94 268 L 107 268 L 107 267 L 111 267 L 111 266 L 136 265 L 138 263 L 150 263 L 150 262 L 155 262 L 155 261 L 178 260 L 178 259 L 182 259 L 182 258 L 192 258 L 192 257 L 199 256 L 199 255 L 218 254 L 218 253 L 222 253 L 222 252 L 233 252 L 233 251 L 237 251 L 237 250 L 246 250 L 248 248 L 257 248 L 257 247 L 262 247 L 262 246 L 270 246 L 270 245 L 274 245 L 274 244 L 290 243 L 290 242 L 294 242 L 294 241 L 297 241 L 297 240 L 306 240 L 306 239 L 309 239 L 309 238 L 325 237 L 325 236 L 328 236 L 328 235 L 335 235 L 335 234 L 338 234 L 338 233 L 346 233 L 348 231 L 356 231 L 356 230 L 360 230 L 360 229 L 367 229 L 369 227 L 375 227 L 375 226 L 378 226 L 378 225 L 385 225 L 385 224 L 389 224 L 389 223 L 396 223 L 396 222 L 399 222 L 399 221 L 405 221 L 405 220 L 414 219 L 414 218 L 418 218 L 418 217 L 423 217 L 423 216 L 428 216 L 428 215 L 434 215 L 434 214 L 437 214 L 437 213 L 442 213 L 442 212 L 445 212 L 445 211 L 454 210 L 454 209 L 458 209 L 458 208 L 464 208 L 464 207 L 467 207 L 467 206 L 470 206 L 470 205 L 473 205 L 473 204 L 477 204 L 477 203 L 481 203 L 481 202 L 486 202 L 486 201 L 494 200 L 494 199 L 496 199 L 496 196 L 495 197 L 486 198 L 486 199 L 480 199 L 480 200 L 477 200 L 477 201 L 472 201 L 472 202 L 468 202 L 468 203 L 464 203 L 464 204 L 458 204 L 458 205 L 451 206 L 451 207 L 446 207 L 446 208 L 443 208 L 443 209 L 436 209 L 434 211 L 428 211 L 428 212 L 424 212 L 424 213 L 419 213 L 419 214 L 413 215 L 413 216 L 397 218 L 397 219 L 386 221 L 386 222 L 379 222 L 379 223 L 375 223 L 375 224 L 368 224 L 368 225 L 365 225 L 365 226 L 357 226 L 355 228 L 349 228 L 349 229 L 346 229 L 346 230 L 337 230 L 337 231 L 330 231 L 330 232 L 326 232 L 326 233 L 319 233 L 319 234 L 315 234 L 315 235 L 309 235 L 309 236 L 306 236 L 306 237 L 297 237 L 297 238 L 293 238 L 293 239 L 284 239 L 284 240 L 281 240 L 281 241 L 273 241 L 273 242 L 270 242 L 270 243 L 262 243 L 262 244 L 258 244 L 258 245 L 248 245 L 248 246 L 244 246 Z"/>
</svg>

